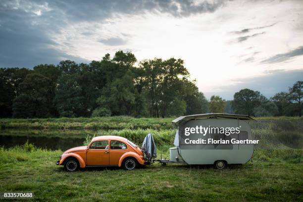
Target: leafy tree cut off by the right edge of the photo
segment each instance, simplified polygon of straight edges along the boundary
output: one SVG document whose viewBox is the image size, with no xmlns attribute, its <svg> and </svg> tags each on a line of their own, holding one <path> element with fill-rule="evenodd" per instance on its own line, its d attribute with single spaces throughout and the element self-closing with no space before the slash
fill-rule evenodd
<svg viewBox="0 0 303 202">
<path fill-rule="evenodd" d="M 297 81 L 292 88 L 289 89 L 290 99 L 297 103 L 296 111 L 299 116 L 302 116 L 302 101 L 303 101 L 303 81 Z"/>
</svg>

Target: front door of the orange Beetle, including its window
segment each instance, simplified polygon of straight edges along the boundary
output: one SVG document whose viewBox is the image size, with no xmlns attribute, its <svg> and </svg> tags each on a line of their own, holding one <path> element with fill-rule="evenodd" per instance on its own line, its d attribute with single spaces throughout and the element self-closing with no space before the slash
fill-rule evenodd
<svg viewBox="0 0 303 202">
<path fill-rule="evenodd" d="M 109 165 L 108 140 L 93 142 L 86 150 L 86 165 Z"/>
</svg>

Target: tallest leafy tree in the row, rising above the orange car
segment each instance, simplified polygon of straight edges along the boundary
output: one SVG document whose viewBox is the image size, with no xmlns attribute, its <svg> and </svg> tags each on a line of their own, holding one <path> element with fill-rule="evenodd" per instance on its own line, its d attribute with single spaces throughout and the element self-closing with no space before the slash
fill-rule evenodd
<svg viewBox="0 0 303 202">
<path fill-rule="evenodd" d="M 102 87 L 101 96 L 97 99 L 97 104 L 101 108 L 110 111 L 112 115 L 136 115 L 140 113 L 138 106 L 143 106 L 144 101 L 142 88 L 135 86 L 134 63 L 137 61 L 134 54 L 130 52 L 117 51 L 110 59 L 110 55 L 106 54 L 101 60 L 102 73 L 105 75 L 106 84 Z M 136 88 L 137 87 L 137 88 Z M 138 103 L 136 103 L 138 101 Z M 98 107 L 94 111 L 94 115 L 101 108 Z M 108 113 L 106 113 L 108 114 Z"/>
</svg>

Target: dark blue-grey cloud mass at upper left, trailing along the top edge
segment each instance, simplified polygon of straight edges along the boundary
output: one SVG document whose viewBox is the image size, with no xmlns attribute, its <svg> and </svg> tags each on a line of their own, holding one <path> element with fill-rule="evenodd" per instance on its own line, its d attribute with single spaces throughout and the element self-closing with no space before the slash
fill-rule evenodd
<svg viewBox="0 0 303 202">
<path fill-rule="evenodd" d="M 0 67 L 33 67 L 40 63 L 57 64 L 62 58 L 86 61 L 54 49 L 51 36 L 75 22 L 105 21 L 115 14 L 168 13 L 177 17 L 214 12 L 225 1 L 193 0 L 1 0 Z M 90 37 L 92 32 L 83 31 Z M 102 37 L 102 36 L 101 36 Z M 101 40 L 109 46 L 125 44 L 119 38 Z"/>
</svg>

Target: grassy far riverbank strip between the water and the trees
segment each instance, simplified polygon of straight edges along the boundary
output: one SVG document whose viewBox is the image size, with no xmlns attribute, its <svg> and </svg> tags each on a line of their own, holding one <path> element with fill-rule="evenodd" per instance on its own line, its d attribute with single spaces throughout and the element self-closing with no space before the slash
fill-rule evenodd
<svg viewBox="0 0 303 202">
<path fill-rule="evenodd" d="M 172 129 L 170 118 L 134 118 L 130 116 L 112 116 L 96 118 L 34 118 L 0 119 L 0 129 L 60 129 L 60 130 L 120 130 L 120 129 Z M 303 122 L 303 117 L 257 117 L 258 125 L 279 121 Z M 253 122 L 252 122 L 253 123 Z"/>
</svg>

